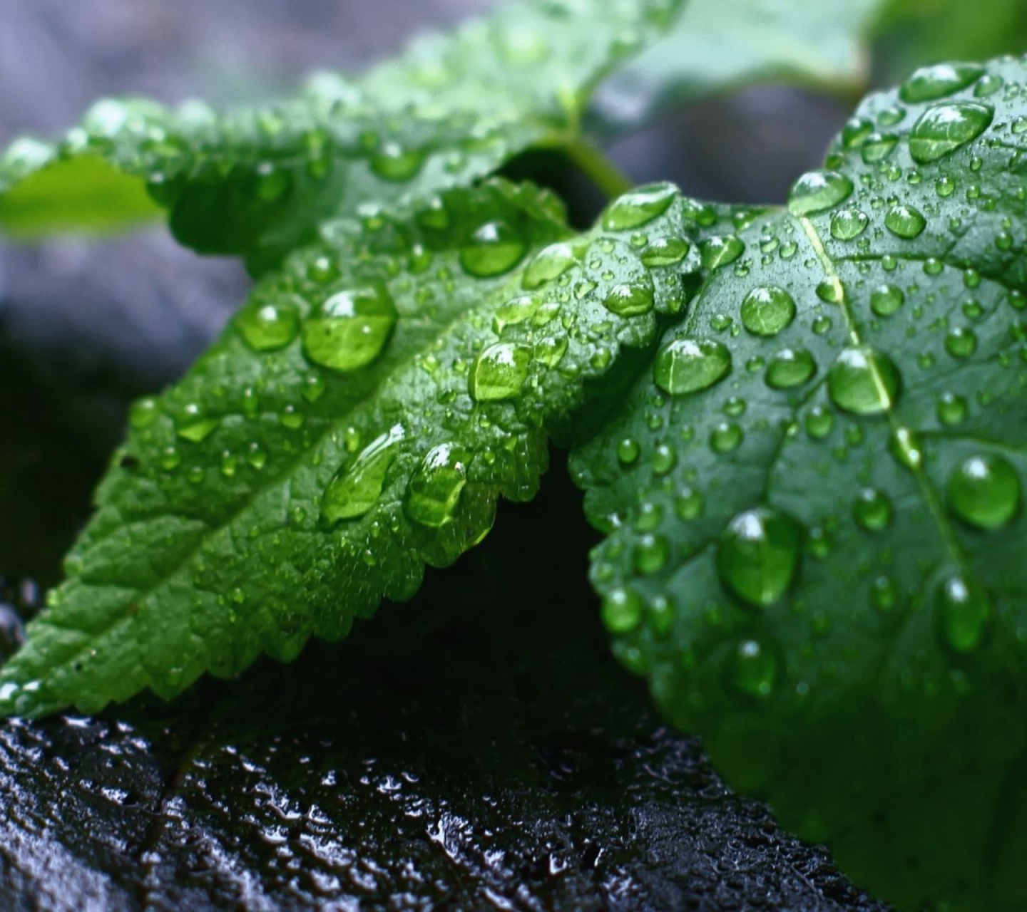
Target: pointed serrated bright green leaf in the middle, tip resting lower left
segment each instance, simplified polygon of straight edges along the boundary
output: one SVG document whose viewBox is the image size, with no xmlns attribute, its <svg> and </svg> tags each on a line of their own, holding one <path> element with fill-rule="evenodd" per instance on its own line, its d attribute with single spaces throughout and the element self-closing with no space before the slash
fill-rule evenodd
<svg viewBox="0 0 1027 912">
<path fill-rule="evenodd" d="M 665 208 L 673 188 L 643 196 Z M 499 495 L 535 493 L 586 385 L 684 303 L 674 275 L 602 231 L 570 236 L 530 186 L 324 235 L 138 403 L 68 581 L 0 669 L 0 712 L 169 698 L 410 598 L 425 563 L 482 540 Z"/>
</svg>

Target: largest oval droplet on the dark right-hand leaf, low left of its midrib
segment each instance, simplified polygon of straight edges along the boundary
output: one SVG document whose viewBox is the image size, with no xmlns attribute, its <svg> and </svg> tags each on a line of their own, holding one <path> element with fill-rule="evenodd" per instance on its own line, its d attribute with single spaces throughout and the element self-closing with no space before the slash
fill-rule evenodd
<svg viewBox="0 0 1027 912">
<path fill-rule="evenodd" d="M 772 604 L 795 579 L 801 538 L 798 523 L 772 508 L 739 513 L 720 538 L 717 568 L 721 581 L 750 604 Z"/>
</svg>

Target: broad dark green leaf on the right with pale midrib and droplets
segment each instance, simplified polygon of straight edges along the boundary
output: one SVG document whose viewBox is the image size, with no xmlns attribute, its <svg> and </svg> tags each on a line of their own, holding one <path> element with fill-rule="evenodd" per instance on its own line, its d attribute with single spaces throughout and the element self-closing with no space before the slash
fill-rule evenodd
<svg viewBox="0 0 1027 912">
<path fill-rule="evenodd" d="M 573 459 L 618 657 L 908 909 L 1027 904 L 1025 85 L 868 98 Z"/>
</svg>

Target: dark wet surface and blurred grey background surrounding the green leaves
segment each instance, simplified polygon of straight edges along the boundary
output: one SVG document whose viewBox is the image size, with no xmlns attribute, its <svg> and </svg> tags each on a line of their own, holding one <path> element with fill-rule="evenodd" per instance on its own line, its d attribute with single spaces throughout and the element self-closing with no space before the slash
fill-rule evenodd
<svg viewBox="0 0 1027 912">
<path fill-rule="evenodd" d="M 484 5 L 0 0 L 0 147 L 104 93 L 288 90 Z M 774 201 L 842 117 L 762 88 L 613 154 L 639 181 Z M 181 373 L 245 287 L 161 231 L 0 247 L 0 601 L 31 613 L 27 581 L 58 576 L 126 403 Z M 554 460 L 538 502 L 504 505 L 482 547 L 345 644 L 170 706 L 0 725 L 0 908 L 883 909 L 728 792 L 610 659 L 595 536 Z"/>
</svg>

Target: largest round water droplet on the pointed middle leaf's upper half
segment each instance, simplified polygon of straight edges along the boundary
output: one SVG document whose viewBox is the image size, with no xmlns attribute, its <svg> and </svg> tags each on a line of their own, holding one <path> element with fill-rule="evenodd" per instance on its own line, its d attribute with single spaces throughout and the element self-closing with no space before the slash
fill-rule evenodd
<svg viewBox="0 0 1027 912">
<path fill-rule="evenodd" d="M 303 325 L 303 351 L 315 364 L 355 370 L 377 358 L 398 314 L 384 284 L 337 291 Z"/>
</svg>

